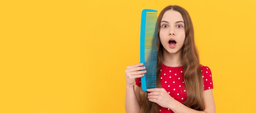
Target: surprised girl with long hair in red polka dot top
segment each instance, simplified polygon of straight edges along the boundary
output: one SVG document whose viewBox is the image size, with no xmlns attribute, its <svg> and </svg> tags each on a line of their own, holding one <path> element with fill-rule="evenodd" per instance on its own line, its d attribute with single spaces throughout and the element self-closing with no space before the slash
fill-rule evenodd
<svg viewBox="0 0 256 113">
<path fill-rule="evenodd" d="M 199 63 L 189 13 L 165 7 L 157 29 L 157 88 L 142 91 L 146 67 L 128 66 L 126 113 L 215 113 L 211 70 Z"/>
</svg>

